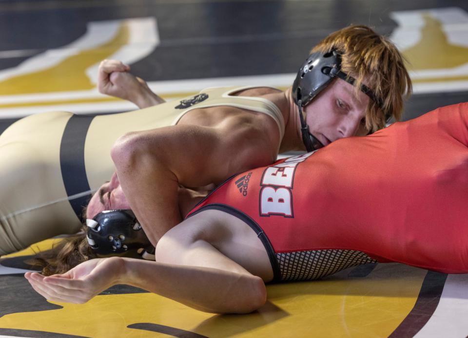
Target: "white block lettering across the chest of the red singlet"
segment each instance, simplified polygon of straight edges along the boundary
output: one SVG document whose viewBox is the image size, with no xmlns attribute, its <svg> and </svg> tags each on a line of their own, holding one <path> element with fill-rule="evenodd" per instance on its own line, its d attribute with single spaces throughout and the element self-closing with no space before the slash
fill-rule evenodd
<svg viewBox="0 0 468 338">
<path fill-rule="evenodd" d="M 287 158 L 284 162 L 267 167 L 260 181 L 260 216 L 294 217 L 292 188 L 294 172 L 315 151 Z"/>
</svg>

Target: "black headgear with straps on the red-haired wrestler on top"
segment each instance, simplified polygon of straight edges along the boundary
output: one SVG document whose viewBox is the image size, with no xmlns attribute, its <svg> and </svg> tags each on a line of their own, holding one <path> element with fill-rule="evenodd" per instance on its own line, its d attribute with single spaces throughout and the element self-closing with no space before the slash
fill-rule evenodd
<svg viewBox="0 0 468 338">
<path fill-rule="evenodd" d="M 316 52 L 306 59 L 297 72 L 292 85 L 292 98 L 299 107 L 302 141 L 307 151 L 317 150 L 323 147 L 323 144 L 309 131 L 309 126 L 302 116 L 302 108 L 307 106 L 335 77 L 350 84 L 354 84 L 356 81 L 351 75 L 341 71 L 341 56 L 337 51 L 331 50 L 325 54 Z M 361 91 L 381 106 L 380 101 L 376 99 L 369 87 L 361 84 Z"/>
</svg>

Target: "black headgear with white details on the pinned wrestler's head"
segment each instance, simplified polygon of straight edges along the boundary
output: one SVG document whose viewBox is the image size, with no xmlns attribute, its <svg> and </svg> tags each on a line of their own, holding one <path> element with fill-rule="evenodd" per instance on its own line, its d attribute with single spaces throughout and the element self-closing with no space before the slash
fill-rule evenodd
<svg viewBox="0 0 468 338">
<path fill-rule="evenodd" d="M 126 254 L 134 250 L 144 254 L 152 251 L 151 242 L 132 210 L 102 211 L 92 220 L 87 219 L 86 225 L 88 243 L 98 255 Z"/>
</svg>

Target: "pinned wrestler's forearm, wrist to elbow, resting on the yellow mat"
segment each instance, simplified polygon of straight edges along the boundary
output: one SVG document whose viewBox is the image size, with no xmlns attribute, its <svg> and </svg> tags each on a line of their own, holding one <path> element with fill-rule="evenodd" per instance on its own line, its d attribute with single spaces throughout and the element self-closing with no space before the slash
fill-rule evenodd
<svg viewBox="0 0 468 338">
<path fill-rule="evenodd" d="M 214 268 L 123 259 L 119 283 L 212 313 L 249 313 L 266 301 L 261 278 Z"/>
</svg>

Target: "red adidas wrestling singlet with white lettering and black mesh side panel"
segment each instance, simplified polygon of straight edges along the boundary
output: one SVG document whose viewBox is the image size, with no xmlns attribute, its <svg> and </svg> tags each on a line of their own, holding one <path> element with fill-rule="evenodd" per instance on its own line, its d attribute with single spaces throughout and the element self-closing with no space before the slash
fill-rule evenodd
<svg viewBox="0 0 468 338">
<path fill-rule="evenodd" d="M 276 280 L 401 262 L 468 273 L 468 103 L 236 175 L 189 214 L 252 226 Z"/>
</svg>

